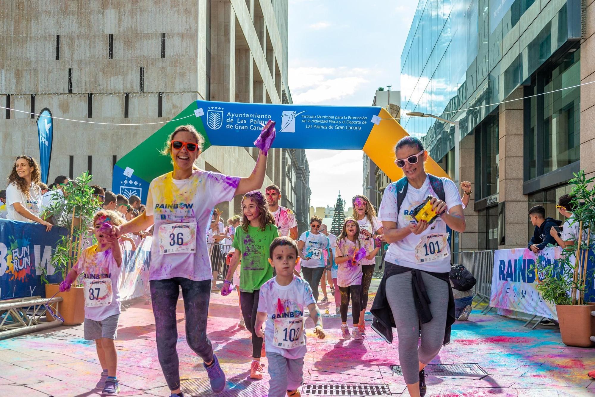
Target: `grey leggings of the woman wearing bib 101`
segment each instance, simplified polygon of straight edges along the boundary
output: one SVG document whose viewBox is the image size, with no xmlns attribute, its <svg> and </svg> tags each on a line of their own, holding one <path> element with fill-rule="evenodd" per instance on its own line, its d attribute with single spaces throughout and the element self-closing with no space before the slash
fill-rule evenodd
<svg viewBox="0 0 595 397">
<path fill-rule="evenodd" d="M 419 362 L 428 364 L 436 357 L 444 341 L 450 286 L 444 280 L 421 272 L 430 298 L 432 320 L 421 324 L 418 349 L 419 318 L 413 299 L 411 271 L 394 274 L 386 280 L 386 298 L 393 312 L 399 338 L 399 362 L 405 383 L 419 382 Z"/>
</svg>

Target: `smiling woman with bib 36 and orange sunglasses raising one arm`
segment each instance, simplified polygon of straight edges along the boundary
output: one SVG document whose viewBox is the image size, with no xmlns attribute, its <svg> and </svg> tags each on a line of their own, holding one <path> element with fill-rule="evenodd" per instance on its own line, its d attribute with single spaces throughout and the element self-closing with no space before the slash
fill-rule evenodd
<svg viewBox="0 0 595 397">
<path fill-rule="evenodd" d="M 180 287 L 188 345 L 204 361 L 212 390 L 219 393 L 225 387 L 225 374 L 206 336 L 212 278 L 206 227 L 216 204 L 262 187 L 267 167 L 266 149 L 270 148 L 270 145 L 265 146 L 265 150 L 260 151 L 252 174 L 240 178 L 199 170 L 194 163 L 203 143 L 195 127 L 177 127 L 163 151 L 171 157 L 174 170 L 151 182 L 145 212 L 122 226 L 112 227 L 112 235 L 118 237 L 155 224 L 149 283 L 157 354 L 173 397 L 183 395 L 176 351 L 176 305 Z"/>
</svg>

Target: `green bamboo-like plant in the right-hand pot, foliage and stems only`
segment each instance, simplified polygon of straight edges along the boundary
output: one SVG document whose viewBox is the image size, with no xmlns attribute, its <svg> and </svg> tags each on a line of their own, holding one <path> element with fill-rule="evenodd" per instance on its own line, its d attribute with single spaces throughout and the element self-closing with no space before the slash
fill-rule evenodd
<svg viewBox="0 0 595 397">
<path fill-rule="evenodd" d="M 541 266 L 540 261 L 536 263 L 537 290 L 543 299 L 552 304 L 585 305 L 595 300 L 595 296 L 588 296 L 585 300 L 588 283 L 593 282 L 593 270 L 587 269 L 587 262 L 589 259 L 594 260 L 592 249 L 595 248 L 595 238 L 591 236 L 595 233 L 595 189 L 590 187 L 594 180 L 587 179 L 582 170 L 569 180 L 574 185 L 571 193 L 574 196 L 571 226 L 578 223 L 577 236 L 574 236 L 572 245 L 563 249 L 562 258 L 557 263 L 546 266 Z"/>
</svg>

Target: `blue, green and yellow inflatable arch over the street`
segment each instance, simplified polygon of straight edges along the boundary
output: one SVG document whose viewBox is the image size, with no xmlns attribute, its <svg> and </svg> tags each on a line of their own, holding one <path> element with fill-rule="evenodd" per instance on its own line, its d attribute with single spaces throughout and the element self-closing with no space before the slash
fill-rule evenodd
<svg viewBox="0 0 595 397">
<path fill-rule="evenodd" d="M 159 153 L 177 126 L 192 124 L 209 146 L 254 146 L 262 125 L 276 122 L 273 148 L 358 149 L 391 180 L 403 176 L 394 164 L 394 145 L 408 136 L 403 127 L 381 107 L 246 104 L 195 101 L 169 123 L 122 157 L 114 166 L 112 191 L 146 200 L 149 183 L 173 169 L 170 158 Z M 426 170 L 448 177 L 428 157 Z"/>
</svg>

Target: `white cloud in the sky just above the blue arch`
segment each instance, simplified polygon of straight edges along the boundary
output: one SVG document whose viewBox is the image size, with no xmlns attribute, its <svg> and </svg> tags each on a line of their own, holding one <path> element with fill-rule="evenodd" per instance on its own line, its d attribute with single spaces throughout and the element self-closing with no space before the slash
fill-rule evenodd
<svg viewBox="0 0 595 397">
<path fill-rule="evenodd" d="M 368 83 L 365 68 L 298 67 L 289 69 L 289 85 L 296 104 L 320 104 L 353 95 Z"/>
</svg>

